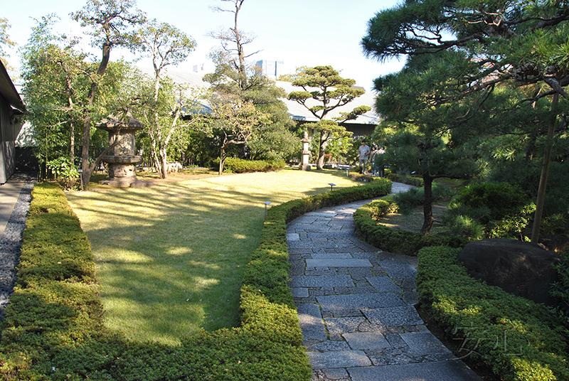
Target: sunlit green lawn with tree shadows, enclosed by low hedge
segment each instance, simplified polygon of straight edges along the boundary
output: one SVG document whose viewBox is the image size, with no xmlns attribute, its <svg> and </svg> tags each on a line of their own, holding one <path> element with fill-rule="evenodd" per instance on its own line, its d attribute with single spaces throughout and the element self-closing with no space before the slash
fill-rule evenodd
<svg viewBox="0 0 569 381">
<path fill-rule="evenodd" d="M 276 205 L 356 183 L 342 171 L 247 173 L 68 193 L 89 237 L 107 326 L 176 345 L 239 325 L 243 268 Z"/>
</svg>

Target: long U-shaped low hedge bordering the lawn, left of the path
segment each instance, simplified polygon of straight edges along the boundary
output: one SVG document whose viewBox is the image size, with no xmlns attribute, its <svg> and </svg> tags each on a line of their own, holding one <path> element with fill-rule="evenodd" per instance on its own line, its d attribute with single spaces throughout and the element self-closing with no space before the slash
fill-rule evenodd
<svg viewBox="0 0 569 381">
<path fill-rule="evenodd" d="M 38 184 L 24 232 L 18 284 L 0 326 L 0 376 L 309 380 L 312 371 L 288 286 L 286 223 L 310 210 L 379 197 L 390 189 L 390 181 L 378 179 L 270 208 L 243 279 L 242 325 L 204 331 L 171 347 L 133 343 L 105 328 L 100 285 L 80 222 L 58 185 Z"/>
</svg>

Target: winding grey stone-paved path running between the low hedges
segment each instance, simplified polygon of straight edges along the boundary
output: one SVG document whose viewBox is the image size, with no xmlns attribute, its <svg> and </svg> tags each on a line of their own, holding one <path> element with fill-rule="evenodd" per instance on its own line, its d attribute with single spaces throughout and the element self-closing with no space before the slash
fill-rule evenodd
<svg viewBox="0 0 569 381">
<path fill-rule="evenodd" d="M 409 186 L 394 183 L 393 192 Z M 353 235 L 369 200 L 307 213 L 287 225 L 291 287 L 312 380 L 474 381 L 415 310 L 417 258 Z"/>
</svg>

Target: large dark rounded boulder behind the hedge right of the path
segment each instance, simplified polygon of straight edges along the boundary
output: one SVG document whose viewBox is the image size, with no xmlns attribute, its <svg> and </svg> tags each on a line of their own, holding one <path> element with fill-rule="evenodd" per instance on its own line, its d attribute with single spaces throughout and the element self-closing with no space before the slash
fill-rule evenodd
<svg viewBox="0 0 569 381">
<path fill-rule="evenodd" d="M 458 256 L 471 277 L 526 299 L 554 306 L 550 285 L 557 280 L 551 264 L 559 254 L 541 246 L 504 238 L 470 242 Z"/>
</svg>

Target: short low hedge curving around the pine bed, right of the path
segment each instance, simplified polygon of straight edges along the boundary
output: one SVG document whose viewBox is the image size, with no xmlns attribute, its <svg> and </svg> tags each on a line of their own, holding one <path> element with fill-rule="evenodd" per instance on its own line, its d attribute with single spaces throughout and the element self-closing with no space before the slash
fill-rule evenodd
<svg viewBox="0 0 569 381">
<path fill-rule="evenodd" d="M 467 240 L 462 237 L 422 235 L 403 229 L 392 229 L 378 222 L 379 219 L 396 205 L 389 199 L 375 200 L 363 205 L 353 213 L 353 222 L 356 224 L 356 235 L 368 244 L 398 254 L 417 255 L 422 247 L 445 245 L 462 247 Z"/>
</svg>

